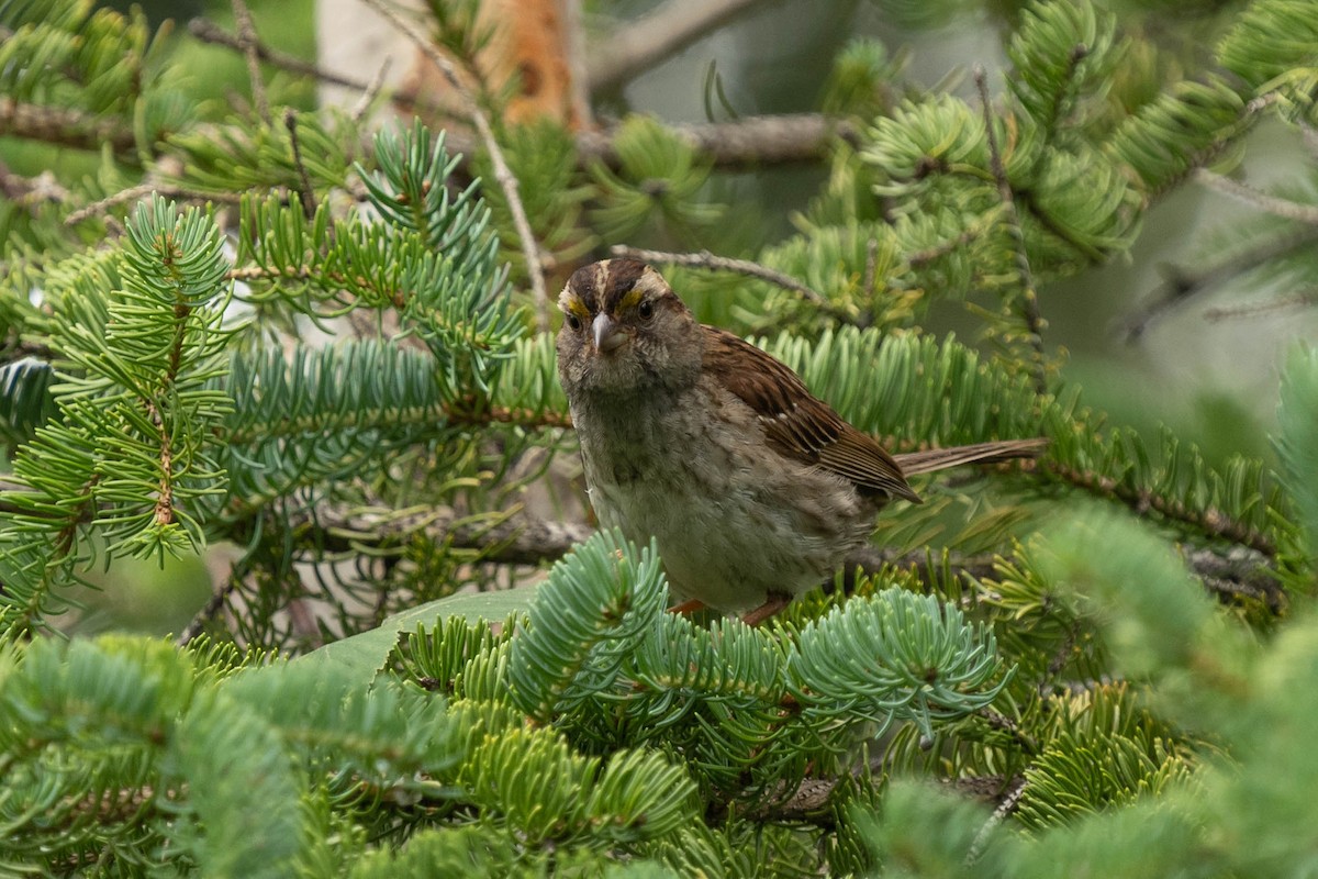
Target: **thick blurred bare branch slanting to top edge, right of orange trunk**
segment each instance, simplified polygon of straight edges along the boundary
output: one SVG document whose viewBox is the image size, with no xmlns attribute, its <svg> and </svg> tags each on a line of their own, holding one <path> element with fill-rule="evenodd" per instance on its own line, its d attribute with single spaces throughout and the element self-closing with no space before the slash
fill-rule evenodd
<svg viewBox="0 0 1318 879">
<path fill-rule="evenodd" d="M 757 0 L 670 0 L 651 14 L 618 28 L 588 53 L 592 94 L 617 88 L 680 51 Z"/>
</svg>

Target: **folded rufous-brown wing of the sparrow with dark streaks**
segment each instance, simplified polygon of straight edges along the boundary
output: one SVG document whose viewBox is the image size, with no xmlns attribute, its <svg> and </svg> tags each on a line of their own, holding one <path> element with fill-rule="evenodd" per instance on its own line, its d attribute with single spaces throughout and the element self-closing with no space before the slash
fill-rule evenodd
<svg viewBox="0 0 1318 879">
<path fill-rule="evenodd" d="M 919 503 L 902 468 L 878 443 L 815 398 L 786 365 L 730 332 L 705 327 L 705 369 L 759 416 L 768 443 L 783 455 L 855 482 L 862 493 Z"/>
</svg>

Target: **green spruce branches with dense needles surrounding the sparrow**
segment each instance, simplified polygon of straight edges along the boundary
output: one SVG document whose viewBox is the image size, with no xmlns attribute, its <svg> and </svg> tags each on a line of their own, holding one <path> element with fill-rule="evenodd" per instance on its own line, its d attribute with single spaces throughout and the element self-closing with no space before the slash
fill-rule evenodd
<svg viewBox="0 0 1318 879">
<path fill-rule="evenodd" d="M 430 5 L 471 62 L 476 4 Z M 0 167 L 0 870 L 1310 867 L 1318 356 L 1285 365 L 1280 467 L 1213 463 L 1093 411 L 1040 293 L 1126 254 L 1260 120 L 1311 137 L 1306 0 L 1227 13 L 1152 82 L 1128 62 L 1156 49 L 1087 0 L 1020 11 L 992 100 L 840 54 L 821 105 L 861 133 L 745 254 L 818 300 L 667 274 L 896 452 L 1050 444 L 921 478 L 865 569 L 759 629 L 666 613 L 654 547 L 564 553 L 525 515 L 532 489 L 568 515 L 575 449 L 489 156 L 420 121 L 198 108 L 140 13 L 4 3 L 0 28 L 0 130 L 79 153 L 58 190 Z M 482 88 L 497 116 L 517 83 Z M 704 249 L 730 213 L 656 119 L 609 161 L 497 129 L 559 273 L 622 239 Z M 1313 225 L 1248 198 L 1277 216 L 1243 235 Z M 938 297 L 982 345 L 921 329 Z M 220 546 L 174 643 L 69 637 L 101 568 Z"/>
</svg>

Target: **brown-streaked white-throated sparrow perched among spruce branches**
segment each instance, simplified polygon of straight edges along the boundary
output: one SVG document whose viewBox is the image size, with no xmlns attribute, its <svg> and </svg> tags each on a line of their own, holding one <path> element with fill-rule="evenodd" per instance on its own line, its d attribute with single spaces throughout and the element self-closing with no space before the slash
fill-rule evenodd
<svg viewBox="0 0 1318 879">
<path fill-rule="evenodd" d="M 579 269 L 559 307 L 559 376 L 590 505 L 630 540 L 658 540 L 679 598 L 763 619 L 834 573 L 887 501 L 920 501 L 878 443 L 770 354 L 697 323 L 643 262 Z M 925 472 L 1041 445 L 903 461 Z"/>
</svg>

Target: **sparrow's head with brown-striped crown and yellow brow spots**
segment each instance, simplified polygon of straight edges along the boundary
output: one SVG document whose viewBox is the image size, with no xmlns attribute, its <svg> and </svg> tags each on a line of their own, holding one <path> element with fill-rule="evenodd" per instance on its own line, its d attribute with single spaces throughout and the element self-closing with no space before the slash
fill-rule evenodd
<svg viewBox="0 0 1318 879">
<path fill-rule="evenodd" d="M 559 308 L 559 376 L 568 397 L 680 387 L 700 374 L 700 324 L 643 262 L 605 260 L 577 269 Z"/>
</svg>

